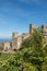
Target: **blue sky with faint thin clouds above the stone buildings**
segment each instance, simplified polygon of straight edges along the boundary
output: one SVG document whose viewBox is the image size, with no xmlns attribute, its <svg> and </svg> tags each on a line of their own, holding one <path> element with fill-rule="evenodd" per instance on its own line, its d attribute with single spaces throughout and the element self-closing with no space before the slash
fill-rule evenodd
<svg viewBox="0 0 47 71">
<path fill-rule="evenodd" d="M 28 24 L 47 22 L 47 0 L 0 0 L 0 37 L 28 32 Z"/>
</svg>

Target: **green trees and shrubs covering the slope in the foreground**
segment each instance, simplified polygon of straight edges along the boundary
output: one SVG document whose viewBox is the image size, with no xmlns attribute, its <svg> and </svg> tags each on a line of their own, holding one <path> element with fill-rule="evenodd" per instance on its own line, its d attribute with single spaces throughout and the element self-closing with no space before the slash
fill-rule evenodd
<svg viewBox="0 0 47 71">
<path fill-rule="evenodd" d="M 0 71 L 47 71 L 47 45 L 40 28 L 22 43 L 14 55 L 0 59 Z"/>
</svg>

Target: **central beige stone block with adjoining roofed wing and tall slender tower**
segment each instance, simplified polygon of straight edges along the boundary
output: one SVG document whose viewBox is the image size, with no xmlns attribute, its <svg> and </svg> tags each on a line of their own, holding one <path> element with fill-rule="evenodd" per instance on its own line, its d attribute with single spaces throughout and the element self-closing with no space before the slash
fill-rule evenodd
<svg viewBox="0 0 47 71">
<path fill-rule="evenodd" d="M 30 33 L 23 33 L 21 36 L 15 32 L 12 34 L 12 50 L 20 49 L 21 44 L 24 39 L 28 38 L 34 32 L 35 25 L 30 24 Z"/>
</svg>

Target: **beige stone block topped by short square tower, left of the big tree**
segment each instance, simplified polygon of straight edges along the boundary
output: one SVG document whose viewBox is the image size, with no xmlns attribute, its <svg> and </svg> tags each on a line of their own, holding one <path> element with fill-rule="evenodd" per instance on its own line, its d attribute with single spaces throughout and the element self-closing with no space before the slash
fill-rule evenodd
<svg viewBox="0 0 47 71">
<path fill-rule="evenodd" d="M 21 47 L 22 44 L 22 36 L 19 36 L 17 33 L 13 33 L 12 34 L 12 49 L 19 49 Z"/>
</svg>

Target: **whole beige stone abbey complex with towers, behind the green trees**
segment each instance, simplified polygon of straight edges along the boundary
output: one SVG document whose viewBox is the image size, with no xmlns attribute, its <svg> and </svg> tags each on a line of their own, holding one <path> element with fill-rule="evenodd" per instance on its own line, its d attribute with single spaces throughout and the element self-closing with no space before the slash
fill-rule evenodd
<svg viewBox="0 0 47 71">
<path fill-rule="evenodd" d="M 30 37 L 30 35 L 34 32 L 34 28 L 35 25 L 30 24 L 28 33 L 23 33 L 22 35 L 19 35 L 16 32 L 12 33 L 12 42 L 0 43 L 0 47 L 2 47 L 4 51 L 20 49 L 22 42 Z M 42 28 L 45 37 L 47 37 L 47 26 L 42 25 Z"/>
</svg>

